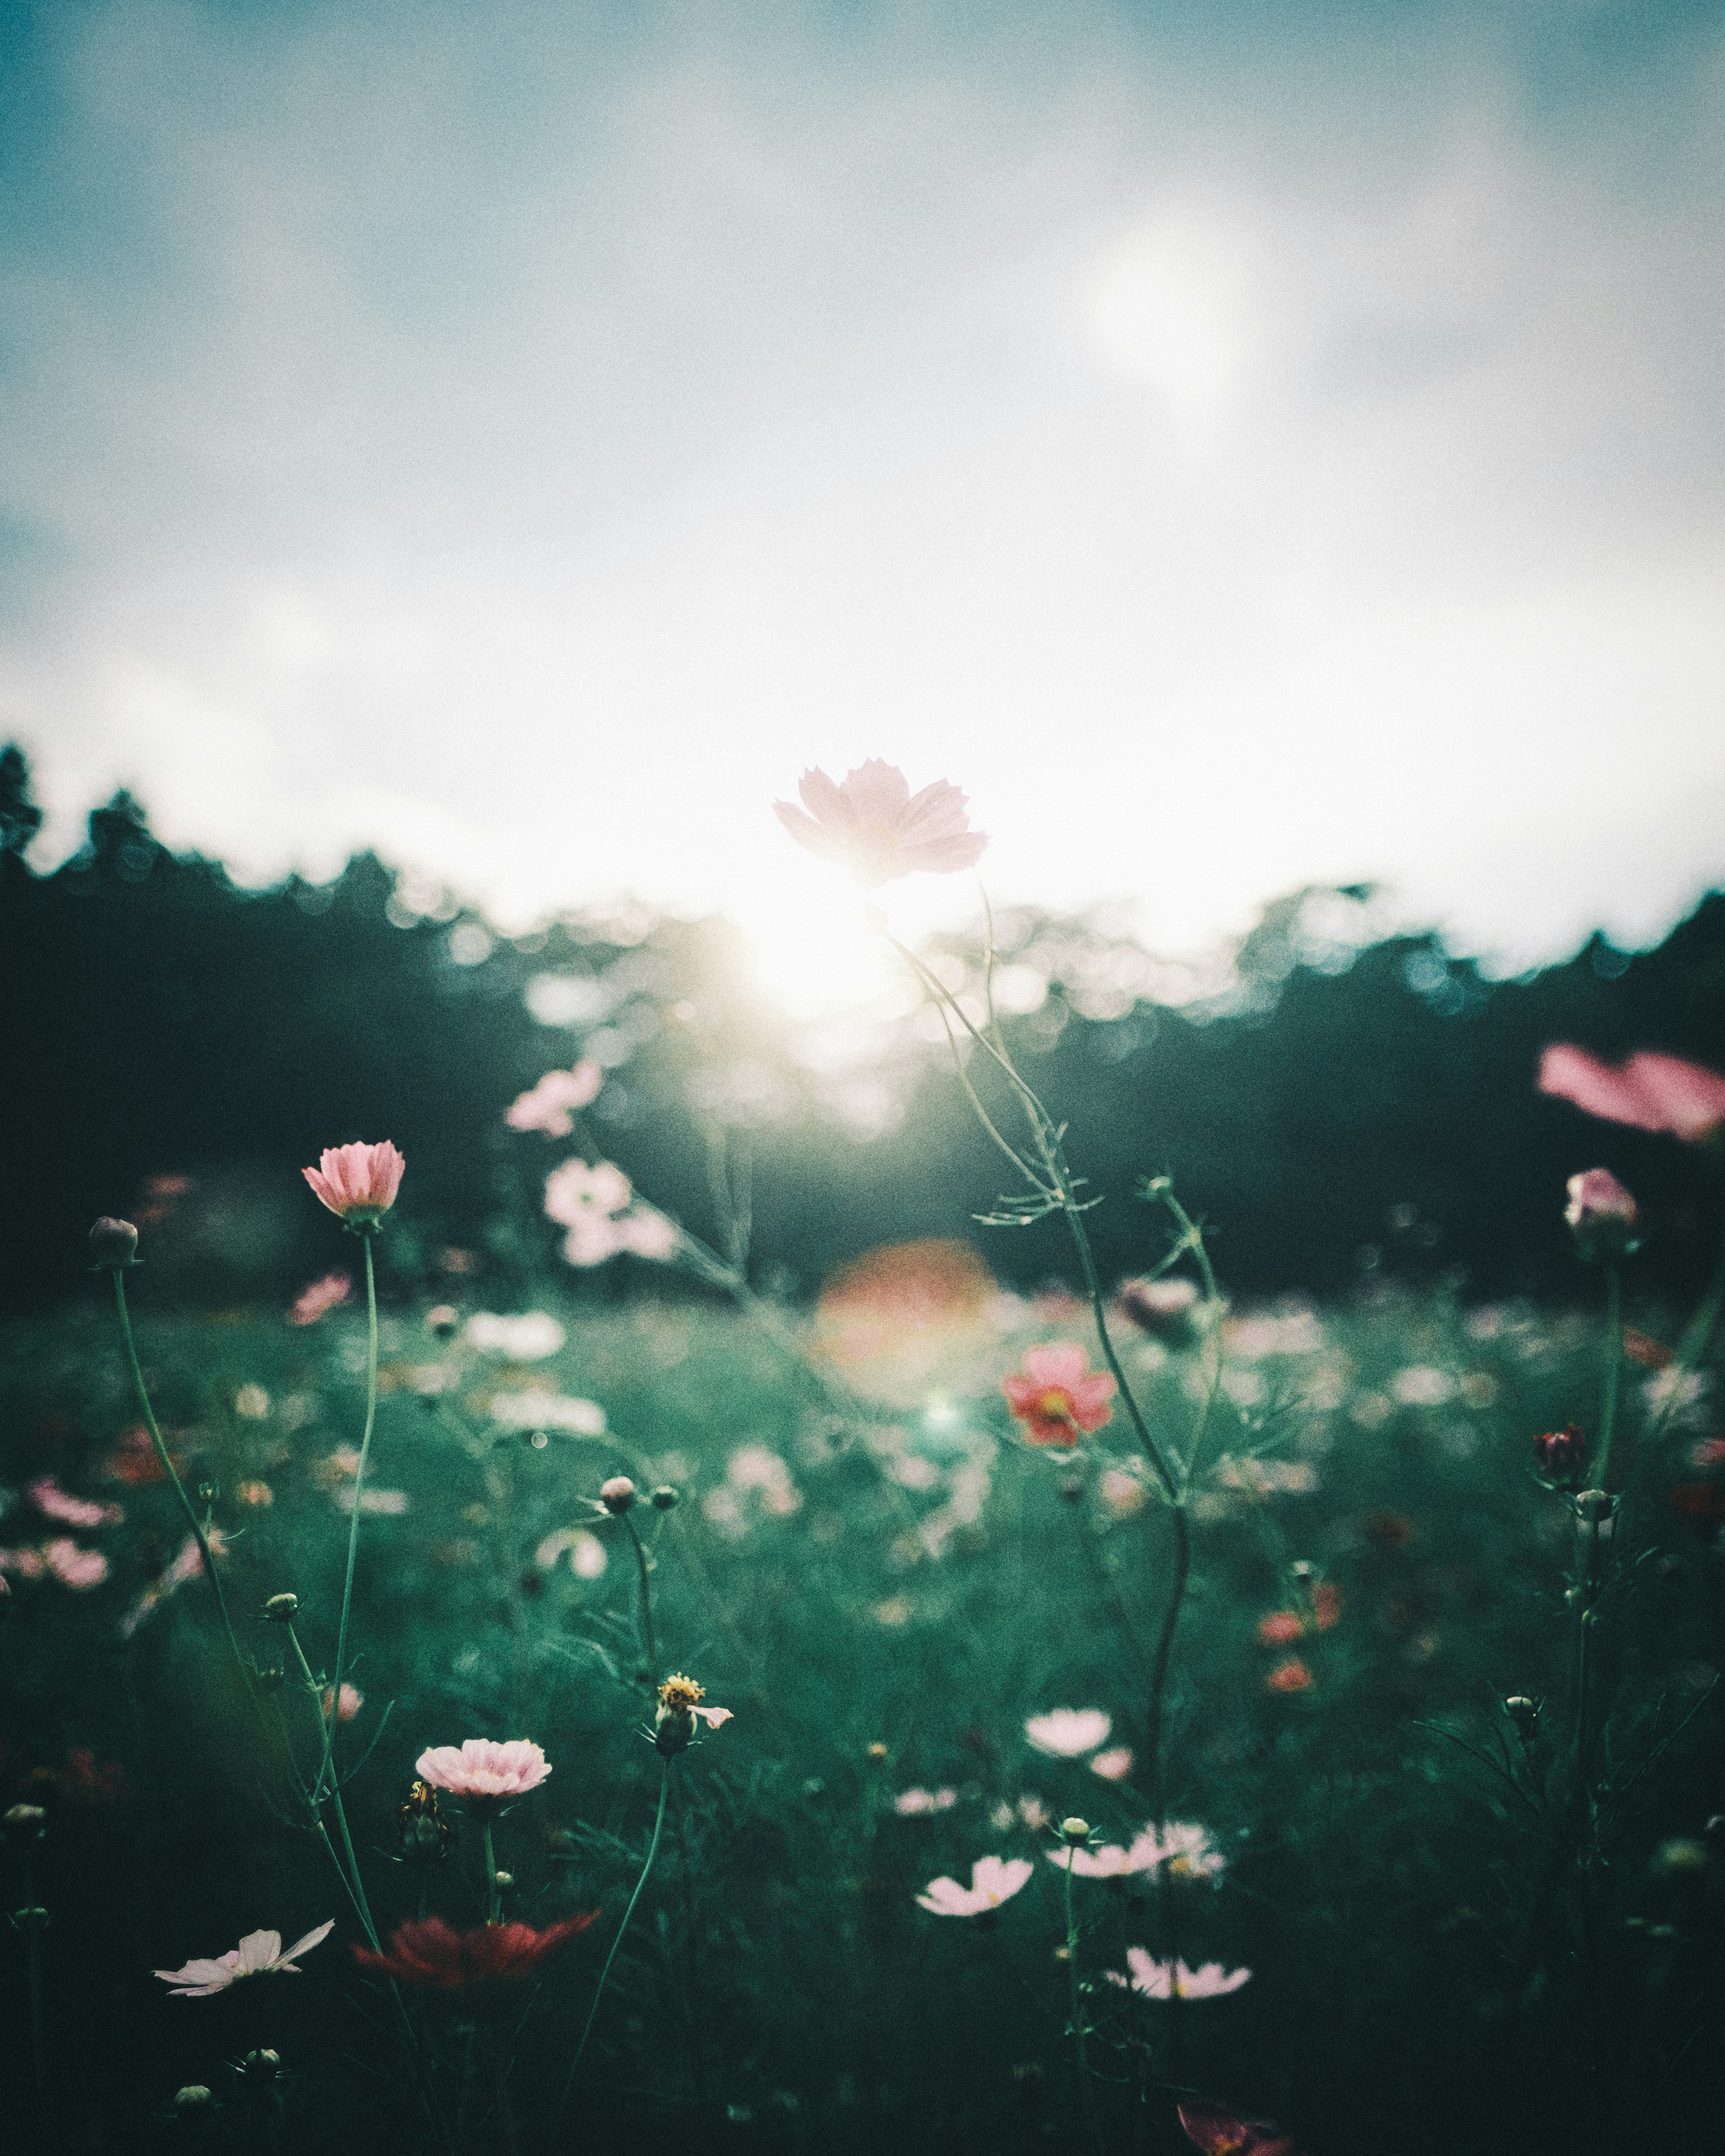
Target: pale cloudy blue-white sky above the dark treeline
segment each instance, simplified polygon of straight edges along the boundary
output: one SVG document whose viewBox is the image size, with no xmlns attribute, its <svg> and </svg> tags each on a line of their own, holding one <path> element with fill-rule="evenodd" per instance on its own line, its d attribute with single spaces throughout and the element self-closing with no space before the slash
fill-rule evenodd
<svg viewBox="0 0 1725 2156">
<path fill-rule="evenodd" d="M 1725 0 L 0 0 L 0 735 L 39 865 L 129 785 L 800 994 L 856 901 L 770 802 L 871 755 L 1158 949 L 1361 880 L 1658 940 L 1725 882 Z"/>
</svg>

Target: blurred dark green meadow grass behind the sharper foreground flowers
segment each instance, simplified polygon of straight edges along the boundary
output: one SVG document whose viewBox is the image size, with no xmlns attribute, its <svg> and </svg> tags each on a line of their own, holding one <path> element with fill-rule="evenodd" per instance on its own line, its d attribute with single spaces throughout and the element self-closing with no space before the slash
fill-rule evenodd
<svg viewBox="0 0 1725 2156">
<path fill-rule="evenodd" d="M 1667 1496 L 1708 1483 L 1690 1464 L 1714 1427 L 1706 1393 L 1647 1442 L 1645 1371 L 1626 1388 L 1628 1494 L 1593 1645 L 1606 1794 L 1587 1824 L 1565 1779 L 1576 1520 L 1533 1479 L 1531 1438 L 1596 1423 L 1596 1319 L 1382 1289 L 1229 1324 L 1167 1712 L 1169 1813 L 1203 1824 L 1225 1869 L 1076 1882 L 1091 2130 L 1065 1882 L 1024 1813 L 1078 1811 L 1108 1843 L 1145 1826 L 1171 1522 L 1123 1416 L 1067 1462 L 1024 1447 L 998 1393 L 1024 1345 L 1087 1341 L 1085 1313 L 1018 1304 L 955 1350 L 938 1395 L 850 1412 L 712 1307 L 595 1311 L 556 1289 L 537 1307 L 565 1343 L 533 1363 L 438 1339 L 418 1311 L 384 1317 L 369 1488 L 403 1509 L 364 1518 L 364 1705 L 339 1731 L 380 1932 L 420 1897 L 459 1927 L 485 1917 L 472 1826 L 429 1874 L 399 1861 L 414 1759 L 466 1736 L 528 1736 L 554 1768 L 496 1828 L 505 1915 L 602 1910 L 530 1984 L 410 1994 L 459 2145 L 1126 2156 L 1190 2147 L 1179 2091 L 1281 2119 L 1309 2156 L 1699 2145 L 1684 2137 L 1719 2096 L 1703 2031 L 1721 2005 L 1721 1552 Z M 188 1488 L 218 1492 L 242 1647 L 282 1667 L 261 1611 L 291 1591 L 326 1671 L 362 1319 L 295 1328 L 134 1291 L 134 1322 Z M 1197 1348 L 1130 1337 L 1123 1354 L 1151 1429 L 1190 1429 Z M 47 1811 L 45 1837 L 13 1828 L 0 1861 L 13 1891 L 28 1843 L 52 1917 L 54 2130 L 75 2147 L 438 2145 L 267 1733 L 280 1712 L 315 1772 L 315 1703 L 289 1677 L 252 1716 L 201 1578 L 125 1632 L 185 1535 L 164 1483 L 104 1479 L 136 1421 L 127 1388 L 95 1298 L 6 1339 L 4 1481 L 52 1473 L 125 1509 L 63 1529 L 19 1494 L 0 1520 L 11 1548 L 69 1533 L 110 1567 L 88 1589 L 15 1570 L 0 1634 L 0 1796 Z M 556 1427 L 530 1395 L 597 1404 L 606 1434 Z M 660 1783 L 630 1522 L 593 1503 L 617 1473 L 677 1490 L 675 1509 L 632 1514 L 656 1675 L 690 1671 L 735 1718 L 675 1764 L 664 1848 L 554 2126 Z M 1300 1636 L 1266 1645 L 1274 1613 L 1305 1619 Z M 1266 1682 L 1294 1662 L 1309 1684 Z M 1544 1703 L 1527 1757 L 1507 1695 Z M 1130 1779 L 1031 1749 L 1026 1718 L 1059 1705 L 1110 1714 Z M 953 1796 L 901 1815 L 916 1787 Z M 1031 1884 L 985 1919 L 916 1906 L 981 1854 L 1029 1856 Z M 298 1979 L 170 2001 L 151 1977 L 328 1915 L 336 1934 Z M 1104 1977 L 1130 1945 L 1253 1977 L 1158 2005 Z M 22 2033 L 22 1934 L 0 1940 L 0 1984 Z M 280 2072 L 231 2063 L 259 2046 Z M 28 2117 L 24 2042 L 0 2076 L 6 2115 Z M 213 2102 L 175 2115 L 188 2083 Z"/>
</svg>

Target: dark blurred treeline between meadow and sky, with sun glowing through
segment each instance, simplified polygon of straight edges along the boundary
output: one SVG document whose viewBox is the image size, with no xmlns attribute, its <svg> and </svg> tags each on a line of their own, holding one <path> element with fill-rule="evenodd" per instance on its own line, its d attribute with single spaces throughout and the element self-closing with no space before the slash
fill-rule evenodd
<svg viewBox="0 0 1725 2156">
<path fill-rule="evenodd" d="M 563 1149 L 505 1130 L 502 1110 L 582 1048 L 612 1063 L 593 1149 L 696 1233 L 724 1235 L 716 1130 L 733 1175 L 748 1158 L 750 1266 L 768 1287 L 809 1291 L 858 1250 L 914 1235 L 970 1235 L 1020 1285 L 1070 1272 L 1054 1222 L 975 1222 L 1007 1164 L 944 1048 L 901 1037 L 841 1080 L 811 1067 L 722 921 L 574 921 L 511 942 L 451 906 L 410 912 L 369 854 L 334 884 L 242 890 L 220 865 L 162 847 L 125 793 L 91 815 L 71 860 L 37 875 L 24 856 L 39 821 L 26 763 L 4 750 L 11 1311 L 80 1289 L 101 1212 L 164 1220 L 147 1242 L 164 1289 L 280 1294 L 332 1253 L 298 1169 L 382 1136 L 410 1160 L 395 1285 L 464 1263 L 446 1257 L 455 1246 L 487 1300 L 524 1294 L 554 1250 L 539 1186 Z M 1315 949 L 1305 897 L 1266 912 L 1218 996 L 1182 1009 L 1126 996 L 1110 1015 L 1082 1015 L 1098 1005 L 1074 985 L 1110 957 L 1098 925 L 1013 916 L 1007 957 L 1037 964 L 1048 994 L 1007 1018 L 1007 1035 L 1106 1199 L 1091 1231 L 1108 1274 L 1158 1255 L 1134 1186 L 1167 1171 L 1212 1225 L 1238 1294 L 1328 1294 L 1391 1272 L 1570 1296 L 1563 1181 L 1606 1164 L 1654 1227 L 1641 1279 L 1675 1291 L 1701 1276 L 1721 1212 L 1710 1158 L 1542 1100 L 1533 1074 L 1552 1039 L 1725 1065 L 1725 897 L 1656 951 L 1593 938 L 1509 983 L 1434 936 Z M 638 1274 L 640 1261 L 619 1263 Z"/>
</svg>

